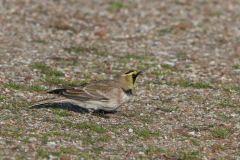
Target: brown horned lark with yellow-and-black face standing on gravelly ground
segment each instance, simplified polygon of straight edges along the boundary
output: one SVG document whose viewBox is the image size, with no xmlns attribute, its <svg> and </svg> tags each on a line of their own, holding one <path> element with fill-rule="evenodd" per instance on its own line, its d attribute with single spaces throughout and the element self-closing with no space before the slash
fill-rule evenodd
<svg viewBox="0 0 240 160">
<path fill-rule="evenodd" d="M 36 105 L 46 103 L 72 103 L 89 110 L 115 111 L 128 102 L 133 85 L 142 71 L 124 70 L 113 80 L 101 80 L 48 91 L 59 95 L 58 98 L 39 101 Z"/>
</svg>

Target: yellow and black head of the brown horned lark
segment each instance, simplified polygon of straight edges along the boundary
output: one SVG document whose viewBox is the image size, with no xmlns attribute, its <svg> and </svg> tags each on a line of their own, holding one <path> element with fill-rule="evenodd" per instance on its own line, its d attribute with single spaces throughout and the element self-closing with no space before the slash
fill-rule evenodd
<svg viewBox="0 0 240 160">
<path fill-rule="evenodd" d="M 114 77 L 114 80 L 122 89 L 131 90 L 133 89 L 133 85 L 136 82 L 137 77 L 142 73 L 142 71 L 137 70 L 123 70 Z"/>
</svg>

